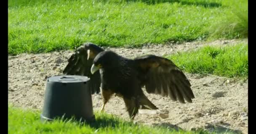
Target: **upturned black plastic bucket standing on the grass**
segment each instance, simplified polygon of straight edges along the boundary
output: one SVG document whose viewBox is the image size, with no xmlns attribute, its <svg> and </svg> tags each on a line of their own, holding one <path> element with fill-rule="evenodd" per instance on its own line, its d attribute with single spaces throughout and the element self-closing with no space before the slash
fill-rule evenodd
<svg viewBox="0 0 256 134">
<path fill-rule="evenodd" d="M 94 121 L 88 77 L 56 75 L 47 78 L 41 121 L 56 118 Z"/>
</svg>

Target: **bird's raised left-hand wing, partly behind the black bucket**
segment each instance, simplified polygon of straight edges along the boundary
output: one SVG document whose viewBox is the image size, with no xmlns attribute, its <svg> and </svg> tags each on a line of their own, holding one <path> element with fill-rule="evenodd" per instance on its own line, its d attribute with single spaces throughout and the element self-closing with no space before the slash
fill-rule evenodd
<svg viewBox="0 0 256 134">
<path fill-rule="evenodd" d="M 99 52 L 104 51 L 99 46 L 92 43 L 85 43 L 75 50 L 75 53 L 68 60 L 68 64 L 63 70 L 63 74 L 67 75 L 84 75 L 90 78 L 88 88 L 91 93 L 99 93 L 101 85 L 101 77 L 99 71 L 91 74 L 91 66 L 93 59 Z"/>
</svg>

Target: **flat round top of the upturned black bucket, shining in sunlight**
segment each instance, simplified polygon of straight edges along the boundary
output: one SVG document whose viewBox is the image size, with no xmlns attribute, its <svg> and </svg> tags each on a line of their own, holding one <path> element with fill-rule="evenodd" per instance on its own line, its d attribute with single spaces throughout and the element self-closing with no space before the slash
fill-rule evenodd
<svg viewBox="0 0 256 134">
<path fill-rule="evenodd" d="M 90 78 L 80 75 L 56 75 L 47 78 L 48 82 L 61 82 L 61 83 L 74 83 L 74 82 L 87 82 Z"/>
</svg>

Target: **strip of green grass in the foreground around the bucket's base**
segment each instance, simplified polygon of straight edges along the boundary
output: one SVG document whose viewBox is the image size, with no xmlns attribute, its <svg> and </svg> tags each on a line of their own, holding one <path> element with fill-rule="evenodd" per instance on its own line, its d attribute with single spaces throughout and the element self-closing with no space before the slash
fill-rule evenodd
<svg viewBox="0 0 256 134">
<path fill-rule="evenodd" d="M 133 124 L 106 113 L 96 113 L 96 122 L 55 120 L 42 123 L 40 111 L 8 106 L 8 134 L 208 134 L 207 131 L 175 131 L 167 127 Z"/>
</svg>

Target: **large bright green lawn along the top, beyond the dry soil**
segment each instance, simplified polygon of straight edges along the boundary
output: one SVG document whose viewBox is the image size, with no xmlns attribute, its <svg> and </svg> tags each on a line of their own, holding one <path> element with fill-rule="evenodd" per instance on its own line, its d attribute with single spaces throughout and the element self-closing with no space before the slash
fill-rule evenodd
<svg viewBox="0 0 256 134">
<path fill-rule="evenodd" d="M 247 8 L 245 0 L 8 0 L 8 4 L 9 54 L 74 49 L 88 41 L 141 46 L 202 40 L 227 18 L 241 27 L 232 6 Z M 237 30 L 215 35 L 244 37 Z"/>
</svg>

